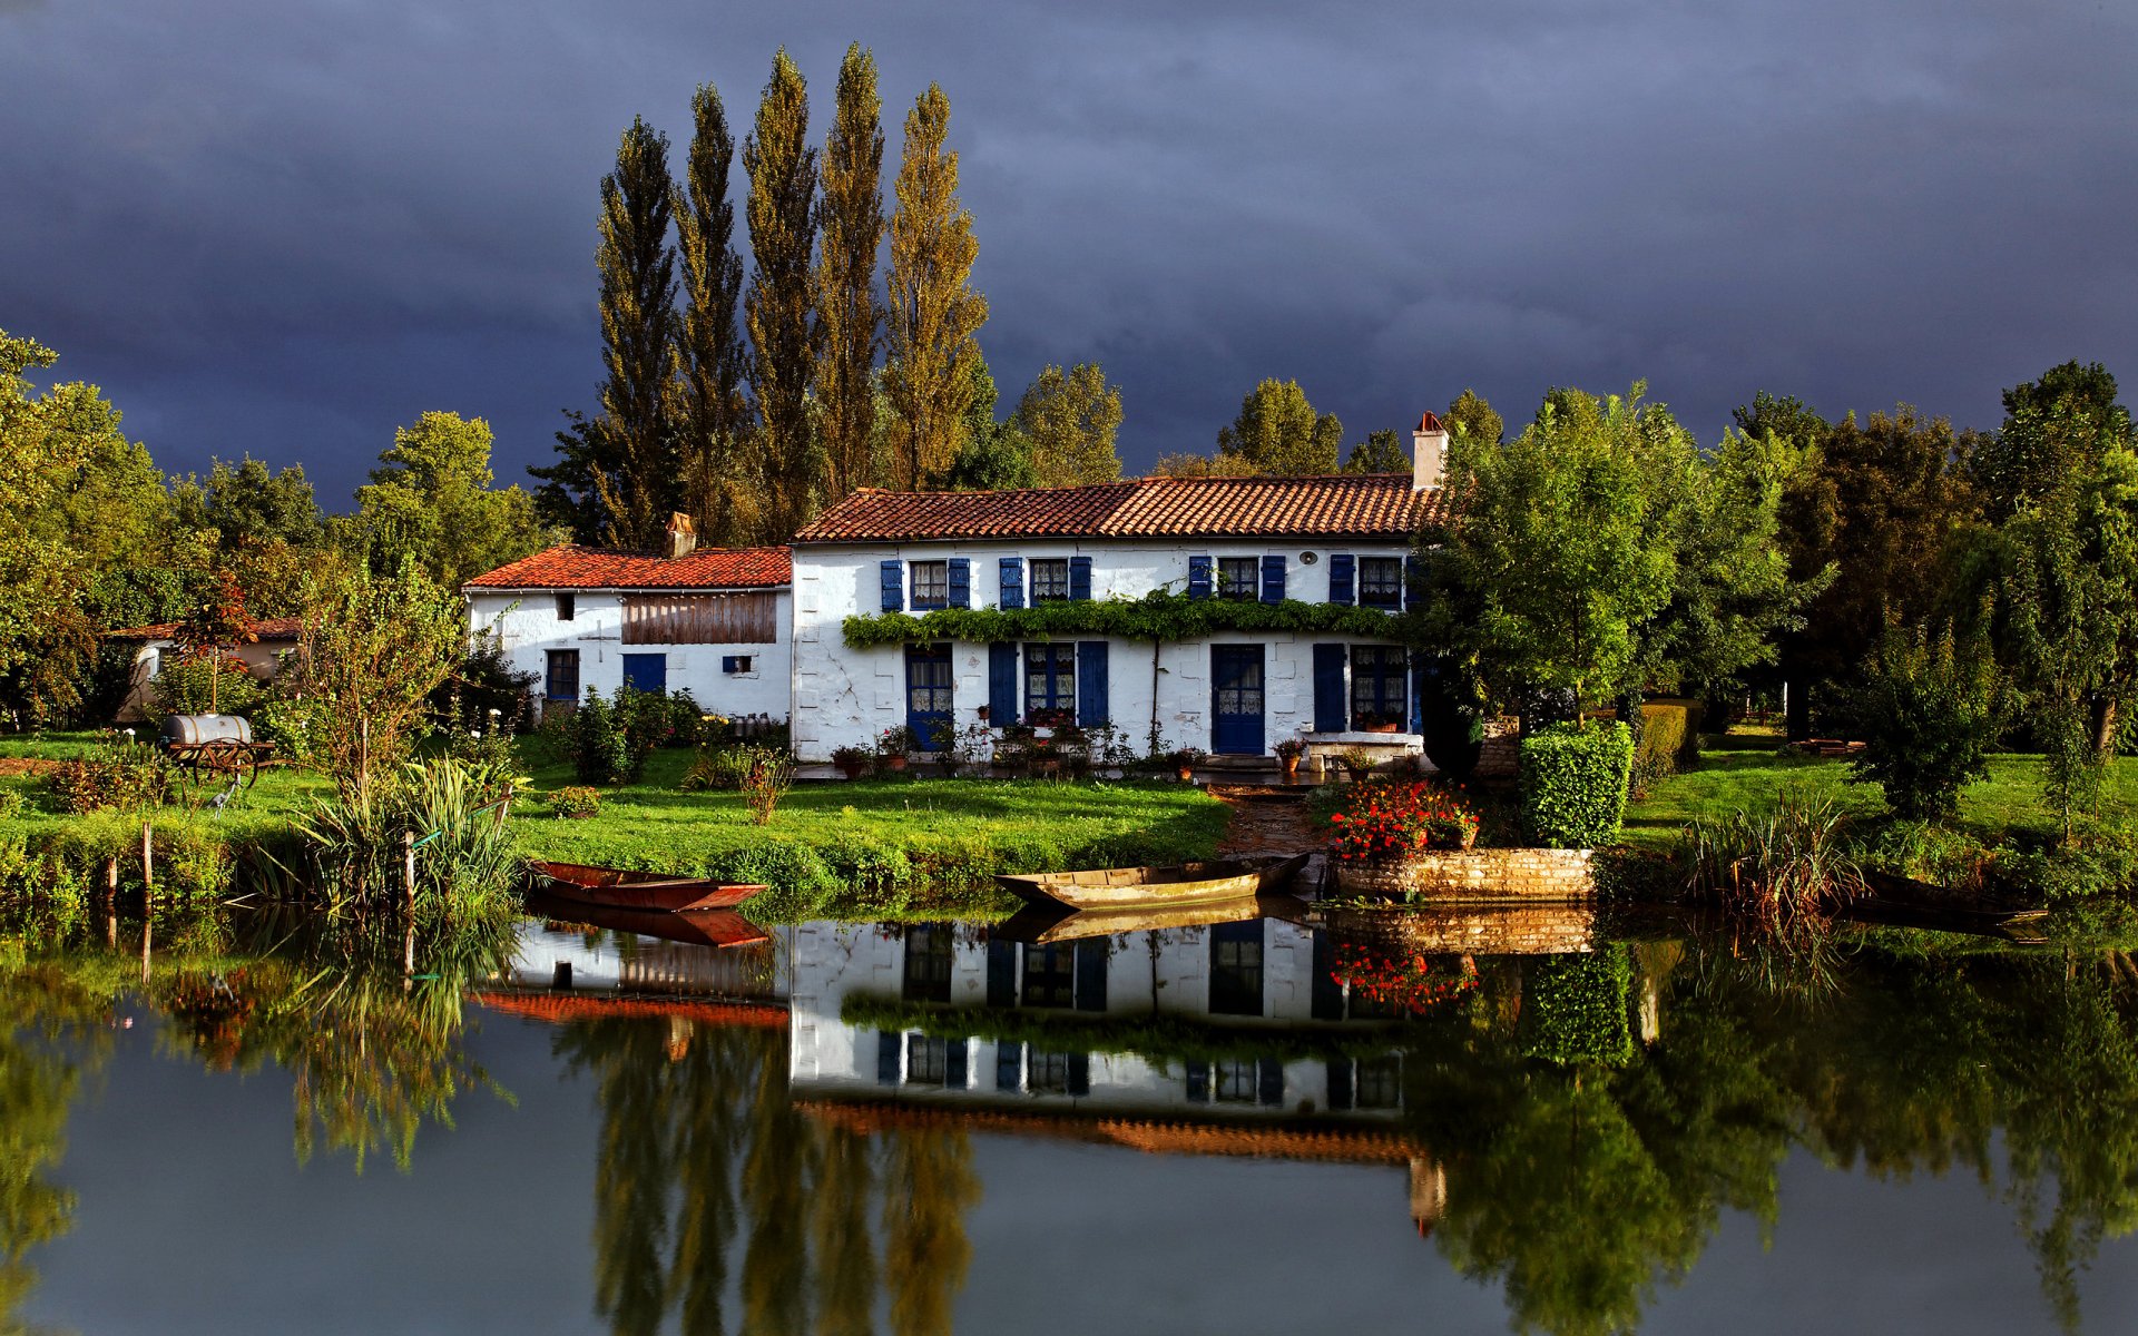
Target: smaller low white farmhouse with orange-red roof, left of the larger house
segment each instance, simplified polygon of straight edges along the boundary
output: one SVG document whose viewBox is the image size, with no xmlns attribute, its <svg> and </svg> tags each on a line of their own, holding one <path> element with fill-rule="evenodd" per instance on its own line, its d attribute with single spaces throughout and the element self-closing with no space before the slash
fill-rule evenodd
<svg viewBox="0 0 2138 1336">
<path fill-rule="evenodd" d="M 477 575 L 462 586 L 470 635 L 496 631 L 545 705 L 629 682 L 787 718 L 787 549 L 699 549 L 678 519 L 665 554 L 564 545 Z"/>
</svg>

